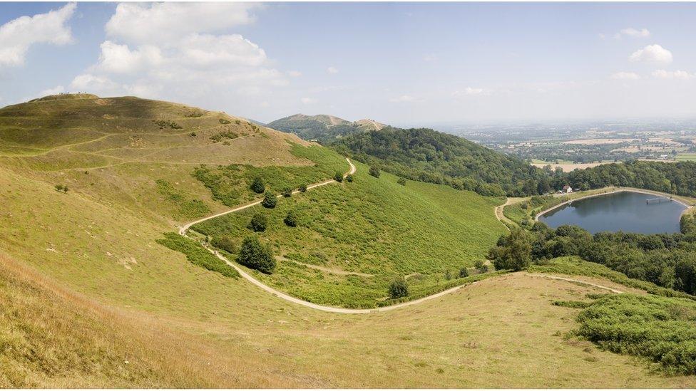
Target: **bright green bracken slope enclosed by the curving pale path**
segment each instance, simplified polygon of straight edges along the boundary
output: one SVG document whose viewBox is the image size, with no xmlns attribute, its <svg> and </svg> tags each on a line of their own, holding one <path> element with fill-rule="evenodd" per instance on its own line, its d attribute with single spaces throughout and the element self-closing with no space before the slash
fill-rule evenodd
<svg viewBox="0 0 696 391">
<path fill-rule="evenodd" d="M 354 182 L 332 184 L 204 221 L 193 230 L 241 244 L 254 214 L 267 215 L 262 241 L 279 255 L 277 271 L 255 273 L 266 283 L 314 303 L 373 307 L 395 276 L 410 276 L 414 293 L 433 290 L 485 259 L 505 231 L 494 214 L 499 199 L 451 187 L 375 178 L 357 164 Z M 299 224 L 283 219 L 294 212 Z M 446 274 L 449 278 L 446 278 Z"/>
</svg>

